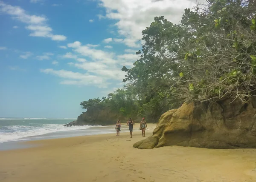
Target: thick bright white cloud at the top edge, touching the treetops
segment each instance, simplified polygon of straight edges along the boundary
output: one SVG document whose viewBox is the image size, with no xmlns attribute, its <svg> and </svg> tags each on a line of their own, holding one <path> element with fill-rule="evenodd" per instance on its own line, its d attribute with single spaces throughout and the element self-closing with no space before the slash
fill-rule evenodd
<svg viewBox="0 0 256 182">
<path fill-rule="evenodd" d="M 140 47 L 141 31 L 150 26 L 154 17 L 163 15 L 167 20 L 179 23 L 184 9 L 195 4 L 196 0 L 99 0 L 100 7 L 106 10 L 105 18 L 117 21 L 118 33 L 125 37 L 123 43 L 135 48 Z"/>
</svg>

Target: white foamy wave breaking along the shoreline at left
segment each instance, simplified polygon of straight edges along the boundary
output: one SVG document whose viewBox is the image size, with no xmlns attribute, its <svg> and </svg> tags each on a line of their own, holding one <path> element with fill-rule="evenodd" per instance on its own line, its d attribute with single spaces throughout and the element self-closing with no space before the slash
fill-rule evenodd
<svg viewBox="0 0 256 182">
<path fill-rule="evenodd" d="M 57 124 L 44 124 L 43 126 L 24 126 L 24 125 L 12 125 L 5 126 L 5 129 L 0 129 L 0 142 L 15 141 L 24 137 L 32 137 L 37 135 L 43 135 L 58 131 L 71 131 L 88 129 L 91 126 L 73 126 L 65 127 Z"/>
</svg>

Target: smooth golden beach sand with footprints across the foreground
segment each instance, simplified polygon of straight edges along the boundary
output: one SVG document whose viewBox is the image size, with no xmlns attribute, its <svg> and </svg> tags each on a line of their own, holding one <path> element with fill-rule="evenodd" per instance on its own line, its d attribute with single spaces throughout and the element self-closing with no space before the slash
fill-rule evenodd
<svg viewBox="0 0 256 182">
<path fill-rule="evenodd" d="M 141 139 L 137 131 L 31 141 L 38 146 L 0 151 L 0 182 L 256 181 L 256 149 L 133 148 Z"/>
</svg>

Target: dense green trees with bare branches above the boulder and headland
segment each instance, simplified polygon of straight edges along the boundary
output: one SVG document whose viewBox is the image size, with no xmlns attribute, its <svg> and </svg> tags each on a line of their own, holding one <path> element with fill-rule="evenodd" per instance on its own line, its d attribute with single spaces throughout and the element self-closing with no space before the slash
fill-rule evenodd
<svg viewBox="0 0 256 182">
<path fill-rule="evenodd" d="M 256 91 L 256 0 L 207 0 L 185 9 L 180 24 L 163 16 L 142 31 L 140 60 L 122 68 L 128 84 L 83 108 L 102 105 L 156 121 L 185 101 L 239 98 Z"/>
</svg>

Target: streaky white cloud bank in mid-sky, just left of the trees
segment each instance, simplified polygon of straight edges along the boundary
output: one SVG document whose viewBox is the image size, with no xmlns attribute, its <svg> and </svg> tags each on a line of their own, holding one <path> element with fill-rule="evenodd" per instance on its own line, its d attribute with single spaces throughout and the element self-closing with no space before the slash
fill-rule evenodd
<svg viewBox="0 0 256 182">
<path fill-rule="evenodd" d="M 119 81 L 122 82 L 122 78 L 125 75 L 125 72 L 121 70 L 123 65 L 131 66 L 135 60 L 131 60 L 134 57 L 130 55 L 120 55 L 116 56 L 115 53 L 109 51 L 103 51 L 100 49 L 96 49 L 95 47 L 82 45 L 80 42 L 76 41 L 74 43 L 67 44 L 67 47 L 72 48 L 73 52 L 67 52 L 62 57 L 73 59 L 75 62 L 67 63 L 68 65 L 72 65 L 76 68 L 81 69 L 81 71 L 85 71 L 85 74 L 80 74 L 81 78 L 72 80 L 71 76 L 69 80 L 64 80 L 61 82 L 62 84 L 70 84 L 70 85 L 96 85 L 98 87 L 106 87 L 107 85 L 114 82 Z M 133 55 L 134 56 L 134 55 Z M 59 72 L 55 72 L 57 70 L 48 71 L 49 73 L 59 75 Z M 48 73 L 47 72 L 47 73 Z M 63 71 L 62 71 L 63 72 Z M 61 73 L 62 73 L 61 72 Z M 46 73 L 44 71 L 44 73 Z M 74 74 L 70 72 L 65 72 L 68 74 Z M 77 75 L 78 73 L 76 73 Z M 97 79 L 97 82 L 91 82 L 90 80 L 84 79 L 84 75 L 86 77 L 92 76 Z M 64 78 L 64 76 L 61 76 Z M 99 81 L 100 80 L 100 81 Z"/>
</svg>

